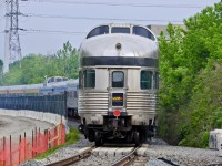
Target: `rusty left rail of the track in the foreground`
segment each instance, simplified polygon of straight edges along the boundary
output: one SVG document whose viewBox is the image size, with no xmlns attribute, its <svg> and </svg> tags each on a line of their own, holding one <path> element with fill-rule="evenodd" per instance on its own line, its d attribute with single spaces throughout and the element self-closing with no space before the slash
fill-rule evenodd
<svg viewBox="0 0 222 166">
<path fill-rule="evenodd" d="M 69 158 L 64 158 L 62 160 L 58 160 L 58 162 L 54 162 L 54 163 L 50 163 L 50 164 L 47 164 L 46 166 L 68 166 L 68 165 L 71 165 L 71 164 L 74 164 L 83 158 L 87 158 L 91 155 L 91 152 L 92 149 L 94 149 L 95 147 L 92 146 L 90 147 L 89 149 L 85 149 L 74 156 L 71 156 Z"/>
</svg>

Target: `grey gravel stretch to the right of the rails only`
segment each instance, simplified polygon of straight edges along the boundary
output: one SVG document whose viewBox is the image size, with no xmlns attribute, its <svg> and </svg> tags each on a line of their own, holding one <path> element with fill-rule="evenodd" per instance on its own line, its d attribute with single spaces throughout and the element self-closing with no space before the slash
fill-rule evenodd
<svg viewBox="0 0 222 166">
<path fill-rule="evenodd" d="M 218 151 L 213 149 L 191 148 L 170 145 L 150 145 L 149 148 L 147 148 L 147 151 L 141 155 L 147 156 L 150 160 L 163 158 L 172 162 L 175 165 L 222 165 L 222 157 L 219 157 Z"/>
</svg>

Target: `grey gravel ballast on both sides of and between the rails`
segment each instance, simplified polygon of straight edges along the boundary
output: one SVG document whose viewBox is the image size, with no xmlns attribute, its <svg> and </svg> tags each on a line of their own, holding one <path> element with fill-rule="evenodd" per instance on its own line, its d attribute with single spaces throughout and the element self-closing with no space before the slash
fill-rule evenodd
<svg viewBox="0 0 222 166">
<path fill-rule="evenodd" d="M 78 127 L 78 123 L 69 122 L 70 126 Z M 73 145 L 58 149 L 51 156 L 41 160 L 30 160 L 22 164 L 22 166 L 42 166 L 60 159 L 68 158 L 75 155 L 79 149 L 90 147 L 90 143 L 81 136 L 80 141 Z M 112 155 L 104 153 L 103 155 L 92 154 L 90 157 L 73 164 L 75 166 L 108 166 L 114 160 L 121 158 L 121 155 Z M 222 166 L 222 157 L 218 156 L 218 151 L 191 148 L 181 146 L 170 146 L 160 138 L 152 138 L 148 141 L 142 148 L 138 151 L 140 156 L 147 157 L 145 166 L 206 166 L 218 164 Z"/>
</svg>

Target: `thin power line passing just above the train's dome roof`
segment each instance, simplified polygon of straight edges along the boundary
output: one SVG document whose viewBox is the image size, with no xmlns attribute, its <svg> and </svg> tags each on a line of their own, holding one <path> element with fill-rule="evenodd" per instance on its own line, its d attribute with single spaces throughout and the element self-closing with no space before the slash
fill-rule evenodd
<svg viewBox="0 0 222 166">
<path fill-rule="evenodd" d="M 135 22 L 183 22 L 180 20 L 159 20 L 159 19 L 115 19 L 115 18 L 91 18 L 91 17 L 70 17 L 70 15 L 50 15 L 50 14 L 24 14 L 26 17 L 34 18 L 51 18 L 51 19 L 73 19 L 73 20 L 103 20 L 103 21 L 135 21 Z"/>
</svg>

